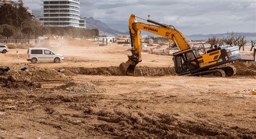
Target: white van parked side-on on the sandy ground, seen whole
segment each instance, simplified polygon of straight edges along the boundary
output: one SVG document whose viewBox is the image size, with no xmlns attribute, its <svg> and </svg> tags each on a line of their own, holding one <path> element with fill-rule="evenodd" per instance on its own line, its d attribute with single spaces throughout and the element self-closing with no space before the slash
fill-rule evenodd
<svg viewBox="0 0 256 139">
<path fill-rule="evenodd" d="M 28 61 L 36 63 L 37 61 L 53 61 L 58 63 L 64 60 L 63 55 L 53 53 L 48 48 L 29 48 L 28 50 Z"/>
</svg>

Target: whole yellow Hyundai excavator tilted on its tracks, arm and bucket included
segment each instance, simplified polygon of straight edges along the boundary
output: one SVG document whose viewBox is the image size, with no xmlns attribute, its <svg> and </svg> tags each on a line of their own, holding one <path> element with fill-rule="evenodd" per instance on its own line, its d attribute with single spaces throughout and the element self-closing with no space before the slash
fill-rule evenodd
<svg viewBox="0 0 256 139">
<path fill-rule="evenodd" d="M 210 50 L 206 50 L 204 45 L 199 48 L 191 47 L 183 33 L 178 31 L 174 26 L 160 24 L 153 20 L 146 21 L 154 25 L 139 23 L 134 15 L 131 15 L 129 19 L 132 55 L 128 55 L 129 60 L 119 66 L 120 71 L 124 75 L 134 75 L 136 65 L 142 62 L 140 30 L 158 34 L 176 44 L 179 51 L 173 53 L 173 61 L 175 71 L 178 75 L 213 74 L 218 77 L 226 77 L 235 74 L 235 67 L 225 64 L 241 59 L 238 46 L 215 46 Z"/>
</svg>

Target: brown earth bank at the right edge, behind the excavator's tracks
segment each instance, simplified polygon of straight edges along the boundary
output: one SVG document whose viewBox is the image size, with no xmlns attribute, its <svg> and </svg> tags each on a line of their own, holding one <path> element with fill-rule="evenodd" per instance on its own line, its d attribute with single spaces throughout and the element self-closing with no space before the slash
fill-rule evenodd
<svg viewBox="0 0 256 139">
<path fill-rule="evenodd" d="M 232 65 L 237 68 L 237 75 L 256 75 L 256 64 L 236 62 Z"/>
</svg>

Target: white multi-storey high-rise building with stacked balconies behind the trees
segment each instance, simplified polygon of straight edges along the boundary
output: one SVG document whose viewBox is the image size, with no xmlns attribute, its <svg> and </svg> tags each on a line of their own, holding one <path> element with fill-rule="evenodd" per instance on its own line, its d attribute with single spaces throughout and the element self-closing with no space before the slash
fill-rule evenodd
<svg viewBox="0 0 256 139">
<path fill-rule="evenodd" d="M 41 2 L 44 26 L 86 27 L 85 20 L 80 19 L 79 0 L 41 0 Z"/>
</svg>

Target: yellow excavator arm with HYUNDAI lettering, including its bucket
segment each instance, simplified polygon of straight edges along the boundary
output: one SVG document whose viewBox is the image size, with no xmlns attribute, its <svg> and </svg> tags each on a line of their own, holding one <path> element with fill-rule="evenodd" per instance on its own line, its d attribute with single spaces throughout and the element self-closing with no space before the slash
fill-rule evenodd
<svg viewBox="0 0 256 139">
<path fill-rule="evenodd" d="M 137 22 L 136 16 L 134 15 L 131 15 L 129 19 L 132 55 L 128 55 L 129 60 L 123 62 L 119 66 L 120 71 L 125 75 L 134 75 L 134 69 L 136 65 L 142 61 L 140 30 L 144 30 L 168 38 L 170 41 L 173 41 L 173 43 L 178 46 L 180 51 L 190 48 L 188 40 L 180 31 L 176 30 L 174 26 L 160 24 L 152 20 L 147 20 L 147 22 L 156 25 L 139 23 Z"/>
</svg>

